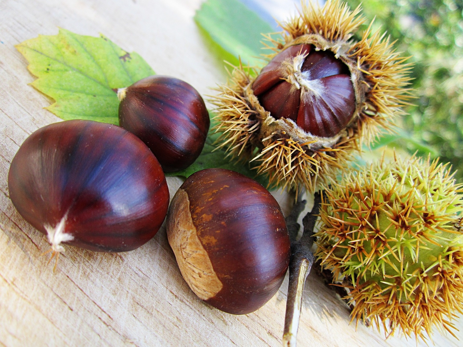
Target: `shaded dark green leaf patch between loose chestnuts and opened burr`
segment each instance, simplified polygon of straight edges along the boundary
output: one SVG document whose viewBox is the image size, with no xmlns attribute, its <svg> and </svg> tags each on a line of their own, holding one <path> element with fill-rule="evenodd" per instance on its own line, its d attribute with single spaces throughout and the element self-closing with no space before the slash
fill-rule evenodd
<svg viewBox="0 0 463 347">
<path fill-rule="evenodd" d="M 214 125 L 214 119 L 211 119 L 211 128 Z M 226 157 L 226 153 L 222 149 L 217 149 L 214 145 L 215 141 L 219 133 L 215 133 L 212 130 L 209 131 L 209 134 L 206 138 L 206 143 L 204 144 L 204 148 L 196 161 L 187 167 L 184 170 L 175 173 L 166 173 L 166 176 L 183 176 L 188 177 L 194 174 L 196 171 L 200 171 L 203 169 L 208 168 L 223 168 L 232 171 L 239 172 L 240 174 L 244 174 L 254 180 L 257 180 L 261 185 L 267 187 L 269 184 L 269 180 L 264 175 L 257 175 L 256 170 L 252 170 L 250 168 L 249 163 L 237 163 L 230 160 L 230 157 Z"/>
</svg>

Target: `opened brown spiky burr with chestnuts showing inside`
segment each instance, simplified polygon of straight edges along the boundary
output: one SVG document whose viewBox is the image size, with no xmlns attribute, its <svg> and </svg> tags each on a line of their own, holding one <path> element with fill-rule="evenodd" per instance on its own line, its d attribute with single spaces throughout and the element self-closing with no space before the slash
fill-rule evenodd
<svg viewBox="0 0 463 347">
<path fill-rule="evenodd" d="M 283 23 L 283 41 L 256 79 L 242 66 L 218 88 L 219 146 L 232 157 L 257 160 L 271 185 L 317 190 L 345 167 L 360 143 L 389 129 L 410 98 L 410 64 L 371 25 L 339 0 L 302 4 Z"/>
</svg>

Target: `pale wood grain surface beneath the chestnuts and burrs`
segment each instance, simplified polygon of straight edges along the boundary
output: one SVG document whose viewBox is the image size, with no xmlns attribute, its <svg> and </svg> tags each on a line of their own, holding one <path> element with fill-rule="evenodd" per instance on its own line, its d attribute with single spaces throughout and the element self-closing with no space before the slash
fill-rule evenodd
<svg viewBox="0 0 463 347">
<path fill-rule="evenodd" d="M 0 0 L 0 345 L 1 346 L 281 346 L 288 279 L 268 304 L 233 316 L 204 304 L 175 263 L 165 228 L 143 247 L 102 254 L 67 247 L 56 272 L 41 254 L 44 235 L 8 198 L 7 173 L 34 130 L 59 121 L 43 109 L 50 99 L 13 47 L 57 27 L 103 33 L 136 51 L 158 74 L 181 78 L 200 93 L 225 81 L 222 64 L 194 24 L 200 0 Z M 171 195 L 181 184 L 169 178 Z M 286 194 L 275 194 L 288 211 Z M 322 280 L 310 275 L 299 346 L 416 346 L 416 342 L 349 324 L 349 312 Z M 462 319 L 457 325 L 463 327 Z M 462 329 L 460 329 L 462 330 Z M 436 346 L 462 346 L 434 335 Z"/>
</svg>

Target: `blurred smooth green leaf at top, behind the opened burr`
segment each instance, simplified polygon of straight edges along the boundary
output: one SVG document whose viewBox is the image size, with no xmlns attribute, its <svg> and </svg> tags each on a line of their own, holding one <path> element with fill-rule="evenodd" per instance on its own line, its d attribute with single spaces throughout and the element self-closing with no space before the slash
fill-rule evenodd
<svg viewBox="0 0 463 347">
<path fill-rule="evenodd" d="M 219 46 L 213 47 L 214 53 L 224 60 L 237 65 L 240 57 L 245 65 L 262 65 L 259 58 L 264 47 L 262 33 L 271 33 L 273 29 L 240 1 L 207 0 L 194 20 L 204 30 L 206 39 Z M 234 57 L 233 61 L 230 56 Z"/>
</svg>

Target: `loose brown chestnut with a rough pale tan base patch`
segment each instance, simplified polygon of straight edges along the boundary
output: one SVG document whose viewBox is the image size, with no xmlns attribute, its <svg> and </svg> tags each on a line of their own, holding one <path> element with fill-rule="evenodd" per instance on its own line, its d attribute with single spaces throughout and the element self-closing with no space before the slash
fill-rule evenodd
<svg viewBox="0 0 463 347">
<path fill-rule="evenodd" d="M 275 198 L 225 169 L 194 173 L 172 198 L 167 237 L 183 278 L 213 307 L 246 314 L 282 284 L 290 241 Z"/>
</svg>

